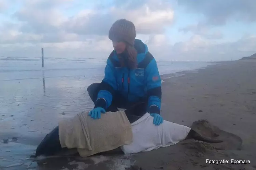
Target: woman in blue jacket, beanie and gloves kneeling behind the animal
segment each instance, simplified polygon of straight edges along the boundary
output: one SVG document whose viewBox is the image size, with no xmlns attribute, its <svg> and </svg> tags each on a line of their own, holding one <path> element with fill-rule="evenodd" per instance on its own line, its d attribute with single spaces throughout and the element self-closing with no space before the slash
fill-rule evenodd
<svg viewBox="0 0 256 170">
<path fill-rule="evenodd" d="M 147 46 L 135 39 L 136 30 L 131 21 L 117 20 L 109 30 L 114 50 L 105 67 L 101 83 L 91 84 L 87 91 L 95 107 L 89 116 L 99 119 L 101 113 L 116 112 L 137 102 L 147 103 L 155 125 L 163 122 L 160 116 L 161 78 L 155 58 Z M 142 115 L 138 115 L 142 116 Z"/>
</svg>

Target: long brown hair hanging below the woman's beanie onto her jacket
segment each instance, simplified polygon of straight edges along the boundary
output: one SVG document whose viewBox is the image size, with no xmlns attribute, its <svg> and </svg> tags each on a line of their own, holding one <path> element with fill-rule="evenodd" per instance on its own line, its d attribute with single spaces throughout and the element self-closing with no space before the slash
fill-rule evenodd
<svg viewBox="0 0 256 170">
<path fill-rule="evenodd" d="M 128 67 L 129 69 L 137 68 L 137 50 L 127 44 L 123 54 L 118 55 L 121 67 Z"/>
</svg>

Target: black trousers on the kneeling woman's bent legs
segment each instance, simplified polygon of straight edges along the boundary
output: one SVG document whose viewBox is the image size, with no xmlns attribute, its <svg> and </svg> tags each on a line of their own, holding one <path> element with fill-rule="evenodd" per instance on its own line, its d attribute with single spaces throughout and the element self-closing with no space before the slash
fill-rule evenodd
<svg viewBox="0 0 256 170">
<path fill-rule="evenodd" d="M 101 83 L 93 83 L 88 86 L 87 91 L 91 100 L 96 102 Z M 106 112 L 116 112 L 117 108 L 124 108 L 132 110 L 130 114 L 136 116 L 143 116 L 147 112 L 147 99 L 142 98 L 139 102 L 128 102 L 122 95 L 116 93 L 113 95 L 112 103 Z M 134 109 L 133 109 L 134 108 Z"/>
</svg>

